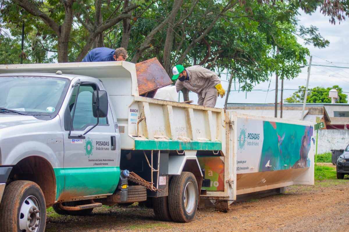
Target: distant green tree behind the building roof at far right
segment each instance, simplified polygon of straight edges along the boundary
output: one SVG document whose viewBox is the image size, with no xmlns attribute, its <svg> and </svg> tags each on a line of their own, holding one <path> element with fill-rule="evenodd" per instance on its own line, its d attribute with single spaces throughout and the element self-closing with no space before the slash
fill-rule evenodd
<svg viewBox="0 0 349 232">
<path fill-rule="evenodd" d="M 342 93 L 342 88 L 335 85 L 333 87 L 315 87 L 308 89 L 306 98 L 307 103 L 331 103 L 331 98 L 328 97 L 329 90 L 336 89 L 338 91 L 338 100 L 336 103 L 348 103 L 347 95 Z M 299 90 L 292 94 L 291 97 L 285 99 L 287 103 L 302 103 L 304 101 L 305 87 L 299 86 Z"/>
</svg>

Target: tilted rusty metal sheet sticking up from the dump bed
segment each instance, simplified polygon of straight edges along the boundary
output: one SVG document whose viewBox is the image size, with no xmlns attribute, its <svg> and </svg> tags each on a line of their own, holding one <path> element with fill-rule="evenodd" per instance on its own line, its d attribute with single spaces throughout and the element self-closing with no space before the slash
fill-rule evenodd
<svg viewBox="0 0 349 232">
<path fill-rule="evenodd" d="M 149 93 L 172 83 L 171 78 L 157 58 L 137 63 L 136 73 L 139 95 Z M 147 97 L 153 97 L 154 94 Z"/>
</svg>

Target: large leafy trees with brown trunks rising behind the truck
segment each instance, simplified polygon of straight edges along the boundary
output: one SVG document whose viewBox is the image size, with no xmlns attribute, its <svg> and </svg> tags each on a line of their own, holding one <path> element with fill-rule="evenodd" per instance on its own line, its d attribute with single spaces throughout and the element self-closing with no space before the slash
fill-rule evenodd
<svg viewBox="0 0 349 232">
<path fill-rule="evenodd" d="M 235 80 L 235 88 L 249 91 L 271 73 L 297 77 L 309 55 L 297 37 L 328 46 L 316 27 L 297 29 L 299 8 L 320 9 L 335 23 L 347 6 L 340 0 L 4 0 L 0 19 L 12 37 L 0 42 L 15 49 L 0 63 L 19 62 L 13 54 L 21 54 L 25 22 L 25 62 L 80 62 L 91 48 L 122 46 L 128 61 L 157 57 L 170 75 L 175 64 L 199 64 L 226 77 L 229 89 Z"/>
</svg>

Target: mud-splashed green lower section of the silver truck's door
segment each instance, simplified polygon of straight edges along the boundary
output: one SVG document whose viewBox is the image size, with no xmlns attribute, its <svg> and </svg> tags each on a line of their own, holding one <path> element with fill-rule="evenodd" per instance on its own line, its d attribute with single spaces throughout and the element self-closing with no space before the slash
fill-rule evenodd
<svg viewBox="0 0 349 232">
<path fill-rule="evenodd" d="M 113 193 L 120 167 L 54 168 L 56 200 Z"/>
</svg>

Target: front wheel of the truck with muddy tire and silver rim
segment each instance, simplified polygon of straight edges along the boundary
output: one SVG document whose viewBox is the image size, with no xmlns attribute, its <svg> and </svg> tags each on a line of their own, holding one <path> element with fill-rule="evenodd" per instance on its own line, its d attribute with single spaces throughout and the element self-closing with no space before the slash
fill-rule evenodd
<svg viewBox="0 0 349 232">
<path fill-rule="evenodd" d="M 5 187 L 0 204 L 0 232 L 44 232 L 46 203 L 39 185 L 14 181 Z"/>
</svg>

